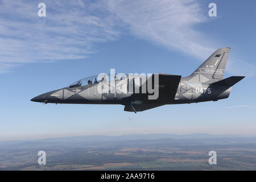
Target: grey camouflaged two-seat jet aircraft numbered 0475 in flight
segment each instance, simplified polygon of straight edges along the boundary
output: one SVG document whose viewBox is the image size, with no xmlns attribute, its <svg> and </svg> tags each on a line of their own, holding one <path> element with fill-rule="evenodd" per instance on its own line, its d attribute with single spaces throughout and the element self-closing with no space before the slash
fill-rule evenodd
<svg viewBox="0 0 256 182">
<path fill-rule="evenodd" d="M 215 51 L 190 76 L 123 73 L 83 78 L 31 99 L 55 104 L 120 104 L 125 111 L 144 111 L 168 104 L 191 104 L 228 98 L 244 76 L 223 79 L 230 48 Z"/>
</svg>

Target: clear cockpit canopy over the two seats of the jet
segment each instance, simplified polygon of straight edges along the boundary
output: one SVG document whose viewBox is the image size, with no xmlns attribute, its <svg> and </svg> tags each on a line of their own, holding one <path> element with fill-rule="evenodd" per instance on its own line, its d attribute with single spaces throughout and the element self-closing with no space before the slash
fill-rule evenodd
<svg viewBox="0 0 256 182">
<path fill-rule="evenodd" d="M 110 76 L 110 74 L 101 73 L 100 75 L 82 78 L 81 80 L 76 81 L 73 84 L 69 85 L 68 88 L 77 88 L 80 86 L 94 85 L 94 84 L 98 84 L 101 81 L 108 82 L 108 81 L 114 81 L 114 80 L 122 80 L 123 78 L 126 78 L 125 74 Z"/>
</svg>

